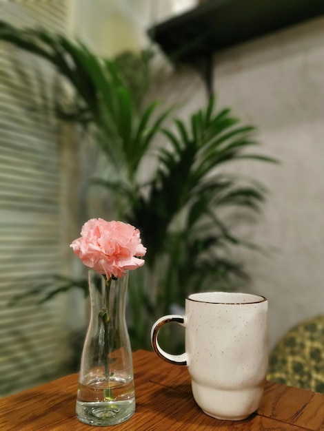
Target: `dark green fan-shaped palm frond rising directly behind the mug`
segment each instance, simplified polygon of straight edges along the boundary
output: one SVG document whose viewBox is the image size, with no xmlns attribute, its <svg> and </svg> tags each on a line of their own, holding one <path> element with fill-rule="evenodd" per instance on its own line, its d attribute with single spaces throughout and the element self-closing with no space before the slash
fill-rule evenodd
<svg viewBox="0 0 324 431">
<path fill-rule="evenodd" d="M 224 174 L 221 165 L 242 158 L 269 161 L 247 153 L 259 145 L 254 127 L 241 126 L 229 109 L 217 112 L 214 98 L 193 114 L 188 126 L 174 120 L 176 132 L 162 129 L 170 144 L 157 150 L 159 167 L 147 193 L 139 193 L 128 220 L 143 232 L 149 264 L 163 256 L 162 313 L 182 303 L 190 291 L 207 286 L 231 288 L 247 278 L 243 266 L 226 254 L 229 246 L 245 245 L 221 218 L 223 208 L 259 211 L 265 189 L 254 181 Z"/>
</svg>

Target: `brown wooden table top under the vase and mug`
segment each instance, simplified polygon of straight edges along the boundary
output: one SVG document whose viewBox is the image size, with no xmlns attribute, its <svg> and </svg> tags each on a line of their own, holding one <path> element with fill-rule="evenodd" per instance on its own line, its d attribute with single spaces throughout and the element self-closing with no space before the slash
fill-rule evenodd
<svg viewBox="0 0 324 431">
<path fill-rule="evenodd" d="M 244 421 L 219 421 L 204 414 L 192 398 L 183 366 L 152 352 L 133 354 L 136 412 L 116 430 L 321 431 L 324 395 L 267 382 L 258 412 Z M 95 429 L 75 416 L 77 374 L 0 399 L 1 431 L 85 431 Z M 99 428 L 100 429 L 100 428 Z"/>
</svg>

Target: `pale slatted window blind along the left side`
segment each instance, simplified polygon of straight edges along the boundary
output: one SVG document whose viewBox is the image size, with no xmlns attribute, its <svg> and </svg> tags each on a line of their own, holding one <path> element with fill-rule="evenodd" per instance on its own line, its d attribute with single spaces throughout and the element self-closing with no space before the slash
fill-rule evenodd
<svg viewBox="0 0 324 431">
<path fill-rule="evenodd" d="M 19 27 L 66 32 L 67 0 L 0 1 Z M 0 43 L 0 395 L 65 370 L 68 340 L 59 299 L 12 299 L 46 282 L 62 265 L 61 164 L 54 94 L 45 61 Z"/>
</svg>

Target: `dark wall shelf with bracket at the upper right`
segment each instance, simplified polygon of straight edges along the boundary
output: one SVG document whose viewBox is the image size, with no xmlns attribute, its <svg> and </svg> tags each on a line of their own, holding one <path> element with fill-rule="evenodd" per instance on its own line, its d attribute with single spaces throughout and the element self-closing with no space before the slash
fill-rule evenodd
<svg viewBox="0 0 324 431">
<path fill-rule="evenodd" d="M 324 14 L 324 0 L 208 0 L 148 30 L 174 63 L 203 74 L 212 92 L 215 52 Z"/>
</svg>

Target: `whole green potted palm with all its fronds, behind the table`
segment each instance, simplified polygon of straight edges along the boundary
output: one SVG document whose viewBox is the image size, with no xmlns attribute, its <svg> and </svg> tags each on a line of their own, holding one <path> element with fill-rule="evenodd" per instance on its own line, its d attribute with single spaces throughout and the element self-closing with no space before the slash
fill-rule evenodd
<svg viewBox="0 0 324 431">
<path fill-rule="evenodd" d="M 133 345 L 147 347 L 152 320 L 170 312 L 172 304 L 183 304 L 188 292 L 230 289 L 247 278 L 243 265 L 228 251 L 252 244 L 236 238 L 221 214 L 227 208 L 259 211 L 265 189 L 255 181 L 225 174 L 221 167 L 244 158 L 274 161 L 248 151 L 259 145 L 253 138 L 254 127 L 241 125 L 230 109 L 216 109 L 215 98 L 188 124 L 175 118 L 167 125 L 174 107 L 159 109 L 156 101 L 145 105 L 141 92 L 136 92 L 141 86 L 132 87 L 121 59 L 99 59 L 65 36 L 21 30 L 2 21 L 1 39 L 47 59 L 68 80 L 74 97 L 68 106 L 58 106 L 58 114 L 90 133 L 95 130 L 108 178 L 94 178 L 92 183 L 107 188 L 119 219 L 141 230 L 148 248 L 145 266 L 154 277 L 130 278 Z M 149 58 L 149 53 L 137 58 L 145 79 Z M 156 146 L 158 134 L 164 140 Z M 140 174 L 149 156 L 154 156 L 156 169 L 143 182 Z M 72 285 L 61 279 L 48 286 L 45 297 Z"/>
</svg>

